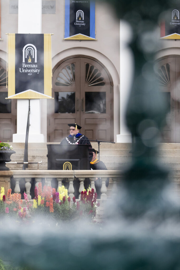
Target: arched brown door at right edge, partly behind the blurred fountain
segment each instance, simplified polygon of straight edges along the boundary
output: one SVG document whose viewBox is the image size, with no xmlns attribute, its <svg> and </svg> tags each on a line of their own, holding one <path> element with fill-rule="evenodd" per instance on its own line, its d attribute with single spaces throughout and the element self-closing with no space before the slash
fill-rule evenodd
<svg viewBox="0 0 180 270">
<path fill-rule="evenodd" d="M 166 117 L 162 140 L 180 143 L 180 57 L 169 56 L 155 64 L 159 90 L 168 101 L 169 113 Z"/>
</svg>

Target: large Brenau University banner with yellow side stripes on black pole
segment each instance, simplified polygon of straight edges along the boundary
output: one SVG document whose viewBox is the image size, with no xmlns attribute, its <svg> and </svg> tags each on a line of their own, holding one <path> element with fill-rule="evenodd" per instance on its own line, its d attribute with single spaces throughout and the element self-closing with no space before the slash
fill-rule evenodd
<svg viewBox="0 0 180 270">
<path fill-rule="evenodd" d="M 51 34 L 8 34 L 8 98 L 51 97 Z"/>
</svg>

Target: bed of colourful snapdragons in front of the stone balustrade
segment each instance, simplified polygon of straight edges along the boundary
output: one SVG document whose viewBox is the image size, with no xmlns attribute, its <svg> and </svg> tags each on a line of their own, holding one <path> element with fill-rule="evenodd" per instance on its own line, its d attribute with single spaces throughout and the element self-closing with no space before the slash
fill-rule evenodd
<svg viewBox="0 0 180 270">
<path fill-rule="evenodd" d="M 35 187 L 35 197 L 33 205 L 29 202 L 27 194 L 24 193 L 26 207 L 22 206 L 21 194 L 11 194 L 11 189 L 5 196 L 4 187 L 1 187 L 0 194 L 0 215 L 21 219 L 23 221 L 32 221 L 36 217 L 45 217 L 54 220 L 56 223 L 60 221 L 73 220 L 89 220 L 93 221 L 97 207 L 97 193 L 94 189 L 88 189 L 81 192 L 81 198 L 76 201 L 73 197 L 72 201 L 68 196 L 67 189 L 59 187 L 58 192 L 55 188 L 39 183 L 38 188 Z"/>
</svg>

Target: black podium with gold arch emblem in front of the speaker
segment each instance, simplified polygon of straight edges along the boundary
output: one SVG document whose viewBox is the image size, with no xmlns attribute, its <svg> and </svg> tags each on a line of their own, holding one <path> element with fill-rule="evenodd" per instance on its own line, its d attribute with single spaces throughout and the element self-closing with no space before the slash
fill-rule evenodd
<svg viewBox="0 0 180 270">
<path fill-rule="evenodd" d="M 47 170 L 90 170 L 86 144 L 47 144 Z"/>
</svg>

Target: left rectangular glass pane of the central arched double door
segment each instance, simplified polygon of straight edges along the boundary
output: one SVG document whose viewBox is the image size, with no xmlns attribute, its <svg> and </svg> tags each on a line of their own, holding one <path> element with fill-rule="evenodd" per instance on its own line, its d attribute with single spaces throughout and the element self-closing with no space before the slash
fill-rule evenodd
<svg viewBox="0 0 180 270">
<path fill-rule="evenodd" d="M 75 92 L 55 92 L 55 113 L 75 113 Z"/>
</svg>

